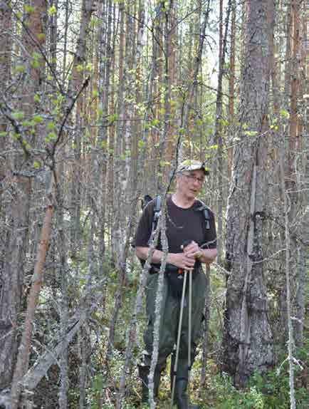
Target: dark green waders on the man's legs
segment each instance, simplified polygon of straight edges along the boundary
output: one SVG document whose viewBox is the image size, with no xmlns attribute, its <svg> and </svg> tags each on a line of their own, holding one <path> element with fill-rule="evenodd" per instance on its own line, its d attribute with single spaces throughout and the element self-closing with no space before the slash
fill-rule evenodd
<svg viewBox="0 0 309 409">
<path fill-rule="evenodd" d="M 142 366 L 150 368 L 153 330 L 155 324 L 155 299 L 157 294 L 158 274 L 149 274 L 146 287 L 146 313 L 148 318 L 147 329 L 144 334 L 145 354 L 143 356 Z M 188 291 L 187 291 L 188 292 Z M 201 336 L 201 323 L 203 319 L 206 293 L 206 277 L 200 270 L 192 280 L 192 329 L 191 329 L 191 363 L 194 362 L 197 342 Z M 172 353 L 177 341 L 177 331 L 179 323 L 181 298 L 172 295 L 169 280 L 164 276 L 162 289 L 162 306 L 159 323 L 159 351 L 155 376 L 166 367 L 167 357 Z M 175 401 L 177 407 L 181 409 L 189 408 L 187 404 L 187 382 L 188 382 L 188 296 L 186 293 L 184 300 L 184 311 L 182 318 L 182 334 L 179 346 L 179 358 L 176 374 Z M 173 374 L 172 374 L 173 375 Z M 141 377 L 142 378 L 142 377 Z M 157 389 L 155 383 L 155 388 Z M 157 390 L 155 390 L 157 392 Z"/>
</svg>

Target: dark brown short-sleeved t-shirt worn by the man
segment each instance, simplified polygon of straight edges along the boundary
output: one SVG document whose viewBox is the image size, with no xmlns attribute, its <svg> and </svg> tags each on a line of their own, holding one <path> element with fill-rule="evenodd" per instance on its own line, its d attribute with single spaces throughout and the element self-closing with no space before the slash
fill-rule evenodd
<svg viewBox="0 0 309 409">
<path fill-rule="evenodd" d="M 201 205 L 201 202 L 196 200 L 192 207 L 183 209 L 174 204 L 171 196 L 167 197 L 166 233 L 170 253 L 181 253 L 181 246 L 186 240 L 194 240 L 199 247 L 204 249 L 216 248 L 214 213 L 209 209 L 209 229 L 206 229 L 206 220 Z M 152 200 L 142 213 L 133 243 L 135 247 L 148 247 L 149 245 L 154 207 L 155 201 Z M 156 248 L 162 250 L 160 237 Z"/>
</svg>

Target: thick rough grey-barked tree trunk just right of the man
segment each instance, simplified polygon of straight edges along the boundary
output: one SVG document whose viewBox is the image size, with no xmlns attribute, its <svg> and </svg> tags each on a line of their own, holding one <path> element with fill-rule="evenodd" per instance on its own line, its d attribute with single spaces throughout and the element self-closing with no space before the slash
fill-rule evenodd
<svg viewBox="0 0 309 409">
<path fill-rule="evenodd" d="M 263 212 L 265 208 L 268 123 L 268 1 L 246 1 L 246 43 L 241 90 L 241 141 L 227 209 L 227 283 L 224 322 L 224 371 L 236 385 L 273 364 L 273 346 L 264 282 Z M 247 210 L 248 209 L 248 210 Z"/>
</svg>

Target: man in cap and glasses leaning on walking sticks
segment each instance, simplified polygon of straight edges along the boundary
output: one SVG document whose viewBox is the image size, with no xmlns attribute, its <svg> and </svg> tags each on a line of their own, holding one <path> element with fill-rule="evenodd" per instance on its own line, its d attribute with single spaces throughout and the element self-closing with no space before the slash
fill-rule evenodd
<svg viewBox="0 0 309 409">
<path fill-rule="evenodd" d="M 216 228 L 214 214 L 210 209 L 208 222 L 205 219 L 204 205 L 197 200 L 197 195 L 204 185 L 208 175 L 204 163 L 197 160 L 186 160 L 177 167 L 176 192 L 167 197 L 167 269 L 164 274 L 164 288 L 162 294 L 161 319 L 159 325 L 159 354 L 154 376 L 154 393 L 158 393 L 159 378 L 166 366 L 167 357 L 173 352 L 177 341 L 179 311 L 184 270 L 192 274 L 192 329 L 191 329 L 191 362 L 193 363 L 197 341 L 201 333 L 201 322 L 204 313 L 206 277 L 201 264 L 211 264 L 216 258 Z M 149 240 L 152 234 L 155 201 L 145 207 L 135 235 L 136 254 L 142 262 L 149 254 Z M 184 244 L 186 243 L 187 244 Z M 188 244 L 189 243 L 189 244 Z M 159 265 L 164 257 L 162 243 L 159 242 L 152 254 L 152 268 L 147 277 L 146 309 L 148 324 L 144 335 L 145 354 L 139 366 L 142 379 L 142 400 L 148 399 L 148 379 L 150 371 L 153 327 L 155 323 L 155 299 Z M 197 408 L 189 406 L 187 398 L 188 383 L 188 300 L 185 295 L 185 304 L 182 319 L 182 336 L 179 346 L 179 360 L 177 365 L 175 395 L 177 408 Z M 172 362 L 174 356 L 172 356 Z M 173 365 L 173 363 L 172 363 Z M 172 376 L 175 374 L 172 373 Z"/>
</svg>

